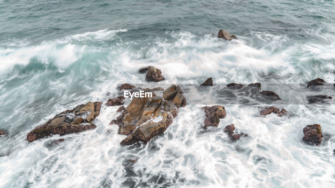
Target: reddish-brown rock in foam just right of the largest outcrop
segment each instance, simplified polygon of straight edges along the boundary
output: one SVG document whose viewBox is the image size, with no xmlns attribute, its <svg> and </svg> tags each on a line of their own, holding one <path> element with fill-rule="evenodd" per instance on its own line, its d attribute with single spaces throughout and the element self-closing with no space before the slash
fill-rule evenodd
<svg viewBox="0 0 335 188">
<path fill-rule="evenodd" d="M 204 120 L 204 128 L 209 126 L 217 127 L 220 122 L 220 118 L 224 118 L 226 116 L 226 111 L 223 106 L 214 105 L 214 106 L 204 106 L 201 109 L 205 110 L 205 120 Z"/>
</svg>

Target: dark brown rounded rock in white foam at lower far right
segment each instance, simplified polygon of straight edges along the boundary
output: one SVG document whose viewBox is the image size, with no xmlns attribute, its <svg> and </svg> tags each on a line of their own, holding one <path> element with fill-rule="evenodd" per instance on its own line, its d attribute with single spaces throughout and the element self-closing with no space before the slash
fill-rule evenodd
<svg viewBox="0 0 335 188">
<path fill-rule="evenodd" d="M 323 137 L 321 132 L 321 125 L 319 124 L 313 124 L 313 125 L 307 125 L 304 130 L 304 137 L 303 140 L 308 143 L 312 143 L 316 146 L 319 146 L 321 144 L 321 138 Z"/>
</svg>

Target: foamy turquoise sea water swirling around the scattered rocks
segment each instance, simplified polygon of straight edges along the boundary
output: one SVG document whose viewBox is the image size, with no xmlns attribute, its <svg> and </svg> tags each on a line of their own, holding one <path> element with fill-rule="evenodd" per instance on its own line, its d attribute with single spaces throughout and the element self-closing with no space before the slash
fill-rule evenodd
<svg viewBox="0 0 335 188">
<path fill-rule="evenodd" d="M 333 0 L 0 0 L 0 187 L 335 187 Z M 239 37 L 217 38 L 219 29 Z M 165 80 L 138 73 L 155 66 Z M 200 88 L 208 77 L 214 86 Z M 306 82 L 323 78 L 317 89 Z M 283 100 L 258 100 L 230 82 L 261 82 Z M 26 134 L 66 109 L 106 102 L 117 84 L 179 84 L 188 105 L 167 130 L 120 146 L 118 107 L 103 106 L 96 128 L 28 143 Z M 223 105 L 203 130 L 205 105 Z M 285 108 L 259 115 L 266 105 Z M 234 123 L 247 133 L 230 142 Z M 321 124 L 320 146 L 302 141 Z M 111 134 L 106 131 L 112 129 Z M 138 159 L 133 165 L 130 159 Z"/>
</svg>

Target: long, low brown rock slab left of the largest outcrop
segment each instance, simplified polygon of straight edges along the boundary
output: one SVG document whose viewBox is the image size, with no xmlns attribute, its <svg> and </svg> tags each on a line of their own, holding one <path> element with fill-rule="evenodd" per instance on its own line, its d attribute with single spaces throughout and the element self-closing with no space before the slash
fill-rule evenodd
<svg viewBox="0 0 335 188">
<path fill-rule="evenodd" d="M 96 126 L 92 121 L 99 115 L 101 105 L 101 102 L 87 102 L 72 110 L 65 110 L 49 119 L 45 124 L 39 125 L 29 132 L 27 140 L 28 142 L 33 142 L 51 134 L 63 136 L 65 134 L 93 129 Z"/>
</svg>

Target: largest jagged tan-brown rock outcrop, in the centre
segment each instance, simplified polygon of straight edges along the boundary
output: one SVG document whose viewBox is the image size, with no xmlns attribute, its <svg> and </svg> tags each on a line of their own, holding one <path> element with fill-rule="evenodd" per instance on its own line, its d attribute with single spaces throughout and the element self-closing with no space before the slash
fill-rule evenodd
<svg viewBox="0 0 335 188">
<path fill-rule="evenodd" d="M 160 91 L 159 88 L 155 90 Z M 127 135 L 121 145 L 148 143 L 151 138 L 164 132 L 177 116 L 179 108 L 186 105 L 186 98 L 179 85 L 167 88 L 163 97 L 156 96 L 154 92 L 152 94 L 152 97 L 134 98 L 121 115 L 112 120 L 111 124 L 119 126 L 118 133 Z"/>
</svg>

